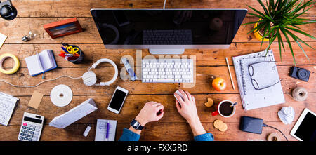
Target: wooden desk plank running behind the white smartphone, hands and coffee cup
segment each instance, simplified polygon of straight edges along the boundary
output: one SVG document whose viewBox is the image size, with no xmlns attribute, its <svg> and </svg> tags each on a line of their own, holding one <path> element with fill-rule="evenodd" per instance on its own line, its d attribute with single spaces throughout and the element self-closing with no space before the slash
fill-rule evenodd
<svg viewBox="0 0 316 155">
<path fill-rule="evenodd" d="M 39 90 L 40 91 L 40 90 Z M 197 112 L 199 114 L 199 118 L 202 122 L 213 122 L 216 119 L 220 119 L 225 122 L 236 123 L 239 122 L 241 116 L 253 116 L 264 119 L 265 121 L 280 121 L 277 112 L 282 107 L 294 107 L 296 115 L 294 120 L 298 119 L 301 112 L 303 112 L 304 108 L 308 108 L 312 110 L 312 112 L 316 112 L 316 107 L 314 105 L 314 101 L 316 100 L 316 93 L 308 94 L 308 99 L 304 102 L 296 102 L 290 95 L 284 94 L 285 103 L 280 105 L 273 105 L 270 107 L 263 107 L 260 109 L 253 109 L 249 111 L 244 111 L 242 107 L 242 102 L 240 100 L 239 94 L 221 94 L 221 95 L 194 95 L 196 99 Z M 114 114 L 107 110 L 107 106 L 111 100 L 111 95 L 84 95 L 84 96 L 74 96 L 70 105 L 66 107 L 56 107 L 51 102 L 49 96 L 44 96 L 41 101 L 41 105 L 39 105 L 39 109 L 34 109 L 32 107 L 27 107 L 30 97 L 19 97 L 20 102 L 18 103 L 18 107 L 16 107 L 13 116 L 11 117 L 11 121 L 9 122 L 10 126 L 19 125 L 22 121 L 22 116 L 24 112 L 29 112 L 33 114 L 40 114 L 45 116 L 46 125 L 51 122 L 51 120 L 55 116 L 59 116 L 65 112 L 68 112 L 73 107 L 81 104 L 88 98 L 93 98 L 96 102 L 98 110 L 89 114 L 88 116 L 80 119 L 76 123 L 93 123 L 96 119 L 115 119 L 119 123 L 129 123 L 131 119 L 136 117 L 140 112 L 140 109 L 143 108 L 146 102 L 155 101 L 160 102 L 164 105 L 164 117 L 158 121 L 157 123 L 183 123 L 186 122 L 176 109 L 175 98 L 173 95 L 129 95 L 126 98 L 124 103 L 124 107 L 121 109 L 120 114 Z M 214 100 L 214 105 L 212 107 L 206 107 L 204 102 L 207 102 L 207 98 L 211 97 Z M 218 103 L 222 100 L 231 100 L 232 102 L 238 102 L 236 107 L 235 115 L 230 118 L 223 118 L 221 116 L 211 116 L 211 112 L 216 111 L 216 107 Z"/>
</svg>

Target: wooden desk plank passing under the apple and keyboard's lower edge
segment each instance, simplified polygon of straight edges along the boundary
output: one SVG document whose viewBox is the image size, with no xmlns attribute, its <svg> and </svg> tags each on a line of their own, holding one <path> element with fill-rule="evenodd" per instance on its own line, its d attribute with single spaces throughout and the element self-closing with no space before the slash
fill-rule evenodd
<svg viewBox="0 0 316 155">
<path fill-rule="evenodd" d="M 300 67 L 300 66 L 298 66 Z M 315 93 L 315 68 L 313 66 L 303 66 L 311 72 L 310 81 L 300 81 L 298 79 L 291 78 L 289 76 L 290 67 L 289 66 L 278 66 L 278 72 L 281 79 L 282 88 L 284 93 L 291 93 L 291 90 L 297 86 L 303 86 L 310 93 Z M 79 77 L 87 71 L 88 67 L 79 68 L 58 68 L 53 69 L 50 72 L 45 73 L 46 79 L 55 79 L 61 75 L 68 75 L 72 77 Z M 119 67 L 119 71 L 121 67 Z M 197 67 L 197 81 L 193 88 L 184 88 L 189 90 L 191 93 L 238 93 L 237 81 L 235 79 L 235 71 L 231 66 L 232 78 L 235 81 L 235 90 L 232 89 L 230 83 L 230 76 L 228 74 L 228 69 L 225 66 L 220 67 Z M 112 79 L 114 74 L 114 68 L 112 67 L 98 67 L 96 70 L 96 75 L 100 81 L 108 81 Z M 216 91 L 211 87 L 211 76 L 223 77 L 227 82 L 227 88 L 224 91 Z M 34 86 L 37 83 L 44 81 L 41 79 L 41 75 L 31 77 L 27 68 L 20 68 L 15 74 L 1 74 L 1 79 L 13 83 L 15 85 L 27 85 Z M 58 84 L 67 84 L 72 88 L 74 95 L 110 95 L 114 92 L 117 86 L 127 88 L 130 94 L 173 94 L 178 88 L 183 88 L 183 84 L 180 86 L 178 83 L 142 83 L 141 81 L 124 81 L 118 79 L 111 86 L 92 86 L 88 87 L 82 83 L 82 79 L 58 79 L 56 81 L 51 81 L 43 83 L 37 88 L 15 88 L 8 86 L 7 84 L 1 84 L 1 91 L 11 95 L 32 95 L 34 90 L 41 90 L 45 95 L 49 95 L 51 89 Z"/>
</svg>

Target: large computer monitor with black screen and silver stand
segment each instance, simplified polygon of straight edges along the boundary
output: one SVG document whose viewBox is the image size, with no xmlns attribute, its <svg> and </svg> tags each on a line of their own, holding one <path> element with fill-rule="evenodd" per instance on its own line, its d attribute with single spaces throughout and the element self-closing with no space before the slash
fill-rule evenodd
<svg viewBox="0 0 316 155">
<path fill-rule="evenodd" d="M 246 9 L 91 9 L 105 48 L 182 54 L 229 48 Z"/>
</svg>

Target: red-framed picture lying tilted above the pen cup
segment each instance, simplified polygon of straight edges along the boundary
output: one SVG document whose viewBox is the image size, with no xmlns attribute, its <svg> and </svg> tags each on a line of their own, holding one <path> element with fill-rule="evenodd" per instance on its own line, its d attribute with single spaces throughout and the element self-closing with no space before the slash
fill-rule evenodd
<svg viewBox="0 0 316 155">
<path fill-rule="evenodd" d="M 53 39 L 60 36 L 82 32 L 81 25 L 79 24 L 77 18 L 52 22 L 44 25 L 44 29 Z"/>
</svg>

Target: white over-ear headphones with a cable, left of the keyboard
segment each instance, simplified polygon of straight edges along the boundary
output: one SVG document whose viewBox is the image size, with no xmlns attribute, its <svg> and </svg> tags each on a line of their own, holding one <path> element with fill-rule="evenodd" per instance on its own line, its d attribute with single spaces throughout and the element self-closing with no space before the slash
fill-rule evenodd
<svg viewBox="0 0 316 155">
<path fill-rule="evenodd" d="M 114 69 L 115 69 L 115 74 L 113 76 L 113 78 L 110 81 L 107 82 L 100 82 L 98 84 L 96 84 L 96 74 L 94 72 L 91 71 L 92 68 L 96 68 L 101 62 L 109 62 L 111 65 L 113 65 Z M 117 69 L 117 65 L 115 65 L 115 63 L 107 58 L 103 58 L 98 60 L 96 63 L 94 63 L 92 65 L 92 67 L 90 67 L 88 69 L 88 72 L 84 73 L 84 75 L 82 75 L 82 79 L 84 80 L 84 84 L 86 86 L 109 86 L 110 84 L 114 83 L 114 81 L 117 79 L 117 75 L 119 74 L 119 70 Z"/>
</svg>

